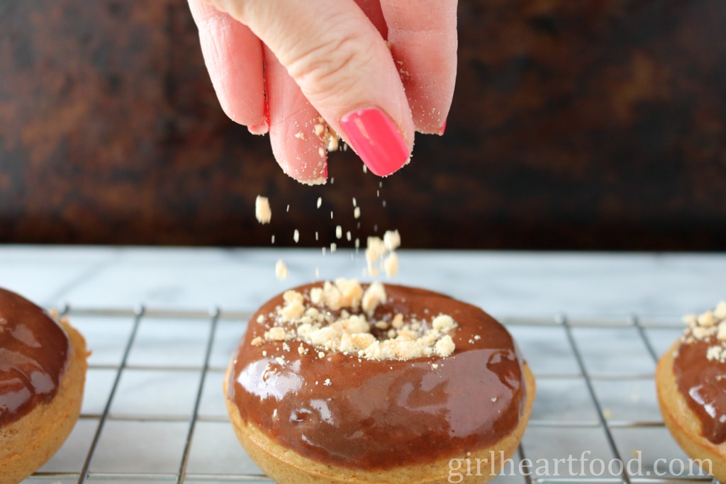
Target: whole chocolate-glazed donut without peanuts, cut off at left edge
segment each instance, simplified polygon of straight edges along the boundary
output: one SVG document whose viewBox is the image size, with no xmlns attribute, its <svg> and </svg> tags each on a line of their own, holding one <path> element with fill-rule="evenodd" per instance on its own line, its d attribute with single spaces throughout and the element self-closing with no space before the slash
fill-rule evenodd
<svg viewBox="0 0 726 484">
<path fill-rule="evenodd" d="M 45 464 L 78 420 L 86 342 L 29 300 L 0 289 L 0 484 Z"/>
</svg>

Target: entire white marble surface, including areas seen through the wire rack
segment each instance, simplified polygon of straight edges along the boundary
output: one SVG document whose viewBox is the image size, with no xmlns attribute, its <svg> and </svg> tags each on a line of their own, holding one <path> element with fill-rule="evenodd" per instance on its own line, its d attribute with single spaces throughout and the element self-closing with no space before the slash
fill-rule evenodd
<svg viewBox="0 0 726 484">
<path fill-rule="evenodd" d="M 275 278 L 278 258 L 290 268 L 285 281 Z M 680 316 L 726 298 L 726 254 L 401 250 L 399 258 L 393 282 L 481 305 L 513 332 L 537 377 L 518 455 L 555 462 L 584 451 L 603 460 L 642 452 L 643 473 L 631 476 L 639 478 L 653 475 L 656 459 L 685 462 L 662 424 L 653 373 L 680 334 Z M 46 307 L 70 305 L 93 351 L 81 419 L 25 483 L 160 482 L 180 475 L 182 462 L 189 482 L 271 482 L 237 444 L 221 392 L 245 321 L 237 314 L 215 324 L 205 311 L 252 311 L 316 269 L 322 278 L 354 277 L 364 266 L 349 251 L 0 247 L 0 286 Z M 160 311 L 134 318 L 140 304 Z M 108 308 L 122 311 L 94 311 Z M 570 329 L 549 319 L 560 313 L 571 316 Z M 634 314 L 669 322 L 624 324 Z M 584 477 L 593 476 L 558 482 Z M 510 473 L 493 482 L 530 481 Z"/>
</svg>

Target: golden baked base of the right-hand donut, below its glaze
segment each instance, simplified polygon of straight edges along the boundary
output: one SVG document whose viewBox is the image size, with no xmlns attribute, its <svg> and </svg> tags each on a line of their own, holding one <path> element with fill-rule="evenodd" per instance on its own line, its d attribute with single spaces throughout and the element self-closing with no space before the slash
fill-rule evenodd
<svg viewBox="0 0 726 484">
<path fill-rule="evenodd" d="M 711 440 L 703 437 L 701 433 L 701 420 L 688 406 L 685 397 L 678 390 L 678 385 L 673 372 L 673 355 L 680 345 L 677 341 L 658 361 L 656 369 L 656 390 L 658 393 L 658 405 L 661 407 L 661 414 L 666 427 L 671 432 L 674 440 L 690 456 L 691 459 L 709 459 L 711 469 L 708 466 L 703 472 L 718 480 L 726 480 L 726 443 L 714 444 Z M 705 358 L 705 356 L 704 356 Z"/>
</svg>

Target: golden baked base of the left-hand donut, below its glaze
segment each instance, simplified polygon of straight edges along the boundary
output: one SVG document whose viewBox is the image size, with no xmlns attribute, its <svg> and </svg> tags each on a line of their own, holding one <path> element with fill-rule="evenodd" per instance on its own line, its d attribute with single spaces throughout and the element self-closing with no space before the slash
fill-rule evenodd
<svg viewBox="0 0 726 484">
<path fill-rule="evenodd" d="M 61 321 L 70 340 L 70 359 L 58 393 L 15 422 L 0 427 L 0 484 L 17 484 L 55 454 L 78 420 L 86 380 L 86 340 Z"/>
</svg>

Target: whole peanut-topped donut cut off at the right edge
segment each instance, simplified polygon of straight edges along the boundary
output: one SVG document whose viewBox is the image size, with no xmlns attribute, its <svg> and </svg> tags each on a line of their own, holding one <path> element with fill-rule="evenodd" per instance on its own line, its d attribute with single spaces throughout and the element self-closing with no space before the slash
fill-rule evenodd
<svg viewBox="0 0 726 484">
<path fill-rule="evenodd" d="M 726 301 L 684 321 L 683 334 L 658 361 L 658 404 L 683 451 L 726 482 Z"/>
</svg>

